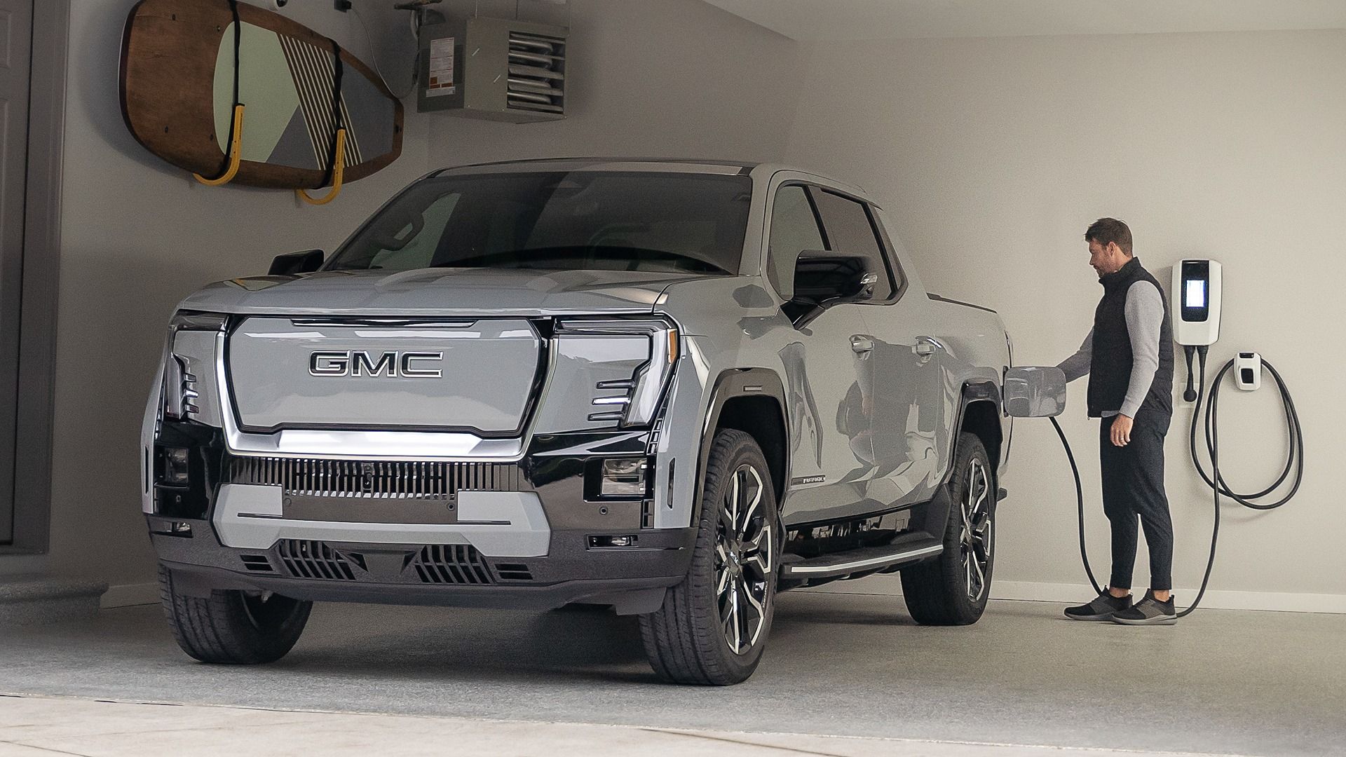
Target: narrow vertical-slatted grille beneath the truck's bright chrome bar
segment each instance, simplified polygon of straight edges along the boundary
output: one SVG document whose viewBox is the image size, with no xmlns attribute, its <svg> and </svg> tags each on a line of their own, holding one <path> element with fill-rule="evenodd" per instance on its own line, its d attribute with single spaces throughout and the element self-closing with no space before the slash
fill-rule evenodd
<svg viewBox="0 0 1346 757">
<path fill-rule="evenodd" d="M 455 500 L 462 490 L 521 492 L 517 465 L 497 462 L 327 461 L 234 457 L 229 484 L 280 486 L 308 497 Z"/>
</svg>

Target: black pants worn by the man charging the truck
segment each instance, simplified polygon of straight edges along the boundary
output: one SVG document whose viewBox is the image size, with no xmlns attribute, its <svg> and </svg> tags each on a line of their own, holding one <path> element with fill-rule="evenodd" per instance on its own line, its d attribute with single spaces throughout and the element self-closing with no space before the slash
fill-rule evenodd
<svg viewBox="0 0 1346 757">
<path fill-rule="evenodd" d="M 1116 416 L 1104 418 L 1098 434 L 1102 470 L 1102 512 L 1112 521 L 1112 578 L 1114 589 L 1131 589 L 1136 566 L 1136 524 L 1149 546 L 1149 587 L 1172 589 L 1174 524 L 1164 494 L 1164 435 L 1171 416 L 1141 408 L 1131 430 L 1131 443 L 1117 447 L 1109 438 Z"/>
</svg>

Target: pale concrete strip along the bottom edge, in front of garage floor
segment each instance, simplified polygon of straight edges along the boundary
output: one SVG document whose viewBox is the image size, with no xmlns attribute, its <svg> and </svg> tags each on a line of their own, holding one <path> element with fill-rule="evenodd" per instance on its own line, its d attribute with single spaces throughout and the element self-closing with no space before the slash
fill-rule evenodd
<svg viewBox="0 0 1346 757">
<path fill-rule="evenodd" d="M 452 749 L 446 749 L 452 745 Z M 1061 757 L 1051 746 L 942 744 L 837 735 L 766 734 L 654 729 L 596 723 L 533 723 L 468 718 L 296 713 L 0 696 L 0 757 L 145 757 L 191 754 L 446 753 L 475 756 L 719 757 L 744 754 L 825 754 L 867 757 Z M 1071 750 L 1079 757 L 1172 754 L 1159 752 Z"/>
</svg>

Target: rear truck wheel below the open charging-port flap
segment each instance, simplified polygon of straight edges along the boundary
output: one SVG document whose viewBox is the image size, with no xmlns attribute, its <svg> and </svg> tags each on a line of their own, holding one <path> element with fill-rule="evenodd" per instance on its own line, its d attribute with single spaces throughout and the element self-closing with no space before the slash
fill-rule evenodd
<svg viewBox="0 0 1346 757">
<path fill-rule="evenodd" d="M 987 450 L 975 434 L 958 435 L 948 486 L 950 508 L 944 552 L 902 568 L 902 595 L 921 625 L 975 624 L 991 595 L 997 489 Z"/>
</svg>

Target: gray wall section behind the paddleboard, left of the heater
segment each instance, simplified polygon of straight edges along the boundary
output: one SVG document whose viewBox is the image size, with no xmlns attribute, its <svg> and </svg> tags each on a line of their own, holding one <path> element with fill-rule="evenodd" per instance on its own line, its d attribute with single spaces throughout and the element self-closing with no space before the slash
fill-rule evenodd
<svg viewBox="0 0 1346 757">
<path fill-rule="evenodd" d="M 381 44 L 411 38 L 405 15 L 393 13 L 390 3 L 357 3 Z M 136 428 L 174 304 L 203 283 L 264 273 L 276 253 L 331 249 L 427 166 L 427 123 L 409 112 L 402 158 L 349 185 L 331 205 L 311 207 L 288 191 L 198 185 L 136 144 L 122 123 L 117 69 L 132 5 L 71 5 L 51 551 L 44 560 L 52 572 L 114 586 L 153 579 L 136 504 Z M 336 13 L 327 1 L 289 5 L 287 15 L 369 62 L 353 15 Z"/>
</svg>

